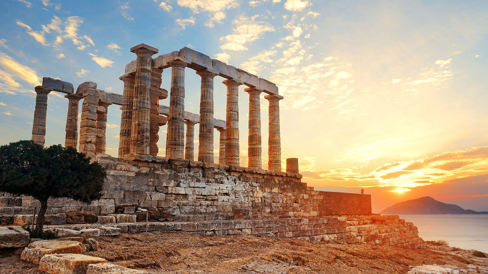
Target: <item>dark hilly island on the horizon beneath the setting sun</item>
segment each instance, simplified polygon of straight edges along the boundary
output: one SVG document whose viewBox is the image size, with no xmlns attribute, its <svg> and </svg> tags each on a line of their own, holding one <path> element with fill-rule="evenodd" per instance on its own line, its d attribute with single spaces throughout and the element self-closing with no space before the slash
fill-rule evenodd
<svg viewBox="0 0 488 274">
<path fill-rule="evenodd" d="M 478 212 L 470 209 L 463 209 L 458 205 L 446 204 L 426 196 L 418 199 L 396 203 L 380 214 L 488 214 L 486 211 Z"/>
</svg>

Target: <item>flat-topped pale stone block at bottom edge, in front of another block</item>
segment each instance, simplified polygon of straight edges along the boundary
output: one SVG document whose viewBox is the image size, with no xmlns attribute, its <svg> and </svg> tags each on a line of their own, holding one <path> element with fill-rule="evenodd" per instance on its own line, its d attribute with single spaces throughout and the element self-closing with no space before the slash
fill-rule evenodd
<svg viewBox="0 0 488 274">
<path fill-rule="evenodd" d="M 107 260 L 82 254 L 47 254 L 41 258 L 39 270 L 49 274 L 83 274 L 89 264 Z"/>
</svg>

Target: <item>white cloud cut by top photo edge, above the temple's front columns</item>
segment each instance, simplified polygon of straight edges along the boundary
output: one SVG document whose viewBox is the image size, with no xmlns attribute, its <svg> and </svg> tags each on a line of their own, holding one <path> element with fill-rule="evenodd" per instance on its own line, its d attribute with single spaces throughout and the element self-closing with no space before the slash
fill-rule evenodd
<svg viewBox="0 0 488 274">
<path fill-rule="evenodd" d="M 237 7 L 239 0 L 178 0 L 178 5 L 190 8 L 193 13 L 208 12 L 210 19 L 205 26 L 213 27 L 214 22 L 222 23 L 224 10 Z"/>
</svg>

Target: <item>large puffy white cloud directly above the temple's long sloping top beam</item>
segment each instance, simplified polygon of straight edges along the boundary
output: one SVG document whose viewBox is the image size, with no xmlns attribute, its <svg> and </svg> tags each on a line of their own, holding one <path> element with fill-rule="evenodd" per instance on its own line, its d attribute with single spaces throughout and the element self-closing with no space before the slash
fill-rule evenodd
<svg viewBox="0 0 488 274">
<path fill-rule="evenodd" d="M 221 37 L 220 40 L 224 42 L 220 46 L 223 50 L 247 50 L 244 45 L 251 43 L 257 39 L 260 39 L 264 33 L 273 32 L 275 29 L 271 24 L 264 21 L 257 21 L 258 15 L 253 17 L 245 17 L 244 15 L 239 16 L 238 19 L 234 20 L 236 25 L 231 35 Z"/>
</svg>

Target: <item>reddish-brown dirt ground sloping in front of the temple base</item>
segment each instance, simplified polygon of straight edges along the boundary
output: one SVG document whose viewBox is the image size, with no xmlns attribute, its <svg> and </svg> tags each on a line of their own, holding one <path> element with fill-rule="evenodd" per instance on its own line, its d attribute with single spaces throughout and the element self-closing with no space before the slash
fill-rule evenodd
<svg viewBox="0 0 488 274">
<path fill-rule="evenodd" d="M 393 274 L 409 265 L 466 264 L 426 249 L 332 244 L 256 236 L 209 237 L 184 232 L 100 236 L 100 249 L 84 253 L 154 274 Z M 44 273 L 19 255 L 0 258 L 0 273 Z"/>
</svg>

